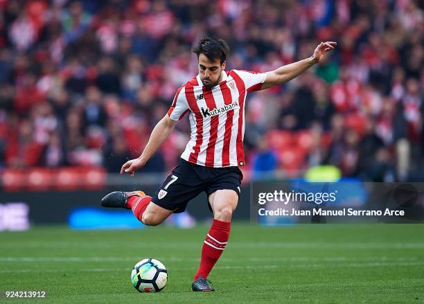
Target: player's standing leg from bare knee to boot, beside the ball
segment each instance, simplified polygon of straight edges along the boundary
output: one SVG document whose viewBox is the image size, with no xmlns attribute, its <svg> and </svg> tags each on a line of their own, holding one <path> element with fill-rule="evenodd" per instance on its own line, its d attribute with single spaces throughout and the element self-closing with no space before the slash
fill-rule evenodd
<svg viewBox="0 0 424 304">
<path fill-rule="evenodd" d="M 209 195 L 209 204 L 213 212 L 211 229 L 204 240 L 200 267 L 194 277 L 193 291 L 213 291 L 206 280 L 213 266 L 218 261 L 229 239 L 231 216 L 238 204 L 235 190 L 216 190 Z"/>
</svg>

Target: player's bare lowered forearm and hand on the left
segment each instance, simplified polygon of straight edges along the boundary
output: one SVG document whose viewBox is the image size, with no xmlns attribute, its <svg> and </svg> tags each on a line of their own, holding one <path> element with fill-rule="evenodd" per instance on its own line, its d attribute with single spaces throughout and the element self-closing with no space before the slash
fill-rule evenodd
<svg viewBox="0 0 424 304">
<path fill-rule="evenodd" d="M 160 145 L 164 143 L 169 134 L 173 132 L 176 124 L 177 121 L 170 119 L 168 114 L 166 114 L 165 117 L 162 118 L 154 127 L 152 134 L 150 134 L 148 144 L 145 145 L 143 153 L 141 153 L 137 159 L 131 159 L 124 163 L 121 168 L 121 174 L 125 172 L 133 177 L 136 170 L 143 168 L 154 152 L 156 152 Z"/>
</svg>

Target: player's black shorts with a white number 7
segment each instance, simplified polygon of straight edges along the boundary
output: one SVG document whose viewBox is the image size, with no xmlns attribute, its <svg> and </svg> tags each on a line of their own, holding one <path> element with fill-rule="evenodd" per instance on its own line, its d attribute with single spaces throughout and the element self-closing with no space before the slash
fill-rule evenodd
<svg viewBox="0 0 424 304">
<path fill-rule="evenodd" d="M 184 212 L 188 201 L 202 193 L 206 195 L 216 190 L 230 189 L 240 197 L 240 184 L 243 175 L 236 166 L 210 168 L 189 163 L 180 159 L 161 187 L 154 193 L 152 202 L 174 213 Z M 208 202 L 209 205 L 209 202 Z M 209 205 L 211 210 L 211 206 Z"/>
</svg>

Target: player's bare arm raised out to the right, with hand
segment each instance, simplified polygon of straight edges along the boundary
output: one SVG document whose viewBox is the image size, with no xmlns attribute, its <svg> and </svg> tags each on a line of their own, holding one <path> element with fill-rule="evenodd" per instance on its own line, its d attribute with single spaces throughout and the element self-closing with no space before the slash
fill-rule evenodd
<svg viewBox="0 0 424 304">
<path fill-rule="evenodd" d="M 279 69 L 276 69 L 274 71 L 267 72 L 267 78 L 265 79 L 265 82 L 263 82 L 262 87 L 260 87 L 260 89 L 267 89 L 276 84 L 288 82 L 289 80 L 292 80 L 293 78 L 299 76 L 311 66 L 320 62 L 328 51 L 333 50 L 336 44 L 337 42 L 333 41 L 321 42 L 317 46 L 317 48 L 315 48 L 313 55 L 309 58 L 300 60 L 298 62 L 293 62 L 292 64 L 281 66 L 279 67 Z"/>
</svg>

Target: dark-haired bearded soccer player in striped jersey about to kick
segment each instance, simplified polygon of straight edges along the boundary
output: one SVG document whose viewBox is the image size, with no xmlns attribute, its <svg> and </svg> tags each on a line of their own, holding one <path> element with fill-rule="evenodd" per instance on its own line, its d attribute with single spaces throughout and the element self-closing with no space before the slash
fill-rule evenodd
<svg viewBox="0 0 424 304">
<path fill-rule="evenodd" d="M 245 165 L 245 101 L 247 93 L 287 82 L 317 64 L 336 42 L 321 42 L 311 57 L 267 73 L 225 71 L 229 47 L 222 39 L 204 38 L 194 48 L 199 74 L 177 90 L 168 113 L 154 127 L 143 153 L 123 164 L 121 174 L 134 176 L 169 136 L 178 120 L 189 115 L 190 141 L 178 165 L 152 197 L 142 191 L 109 193 L 102 206 L 131 209 L 139 221 L 155 226 L 206 192 L 213 222 L 202 247 L 195 292 L 213 292 L 209 272 L 227 246 L 231 215 L 240 196 Z"/>
</svg>

